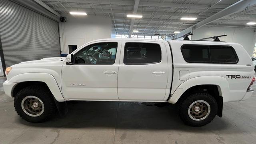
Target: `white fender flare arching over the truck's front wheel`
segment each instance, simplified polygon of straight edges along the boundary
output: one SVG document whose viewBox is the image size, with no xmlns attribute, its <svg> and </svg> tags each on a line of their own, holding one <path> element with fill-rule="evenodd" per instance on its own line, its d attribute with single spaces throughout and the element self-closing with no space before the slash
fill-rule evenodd
<svg viewBox="0 0 256 144">
<path fill-rule="evenodd" d="M 29 81 L 44 82 L 44 83 L 46 83 L 46 85 L 48 86 L 48 88 L 52 92 L 54 98 L 58 102 L 66 101 L 62 96 L 62 93 L 60 91 L 60 87 L 58 86 L 55 78 L 51 74 L 47 74 L 47 73 L 24 73 L 24 74 L 18 74 L 16 76 L 12 77 L 9 81 L 10 82 L 16 82 L 16 83 L 29 82 Z"/>
</svg>

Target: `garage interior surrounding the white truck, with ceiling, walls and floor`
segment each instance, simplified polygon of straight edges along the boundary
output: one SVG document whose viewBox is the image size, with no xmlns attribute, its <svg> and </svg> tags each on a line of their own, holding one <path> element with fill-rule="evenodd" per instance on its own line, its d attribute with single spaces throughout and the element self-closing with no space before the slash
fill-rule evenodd
<svg viewBox="0 0 256 144">
<path fill-rule="evenodd" d="M 190 40 L 225 34 L 221 41 L 255 57 L 256 0 L 0 0 L 0 144 L 255 143 L 256 92 L 225 103 L 222 118 L 199 128 L 184 125 L 175 105 L 150 102 L 70 101 L 65 116 L 30 123 L 4 93 L 5 69 L 20 62 L 65 57 L 102 38 L 172 40 L 189 33 Z"/>
</svg>

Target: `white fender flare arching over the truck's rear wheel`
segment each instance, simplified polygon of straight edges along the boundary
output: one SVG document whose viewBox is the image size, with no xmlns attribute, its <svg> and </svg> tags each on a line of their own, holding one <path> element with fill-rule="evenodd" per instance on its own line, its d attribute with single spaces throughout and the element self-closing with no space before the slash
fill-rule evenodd
<svg viewBox="0 0 256 144">
<path fill-rule="evenodd" d="M 178 86 L 178 88 L 174 91 L 170 99 L 169 103 L 175 104 L 179 98 L 182 96 L 186 90 L 193 86 L 204 85 L 204 84 L 212 84 L 217 85 L 219 96 L 222 96 L 223 102 L 228 102 L 229 98 L 229 84 L 226 78 L 221 76 L 199 76 L 195 78 L 191 78 Z"/>
</svg>

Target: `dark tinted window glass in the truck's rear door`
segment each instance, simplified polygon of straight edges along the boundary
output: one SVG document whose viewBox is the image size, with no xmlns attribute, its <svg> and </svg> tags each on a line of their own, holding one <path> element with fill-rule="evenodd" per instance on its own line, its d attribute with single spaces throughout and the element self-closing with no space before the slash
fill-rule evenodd
<svg viewBox="0 0 256 144">
<path fill-rule="evenodd" d="M 152 64 L 161 62 L 159 44 L 127 42 L 124 46 L 124 64 Z"/>
</svg>

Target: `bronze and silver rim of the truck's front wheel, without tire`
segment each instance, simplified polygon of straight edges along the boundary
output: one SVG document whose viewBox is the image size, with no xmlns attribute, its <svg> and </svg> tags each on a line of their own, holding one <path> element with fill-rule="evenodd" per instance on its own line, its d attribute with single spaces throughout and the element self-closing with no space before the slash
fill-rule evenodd
<svg viewBox="0 0 256 144">
<path fill-rule="evenodd" d="M 36 96 L 26 96 L 21 102 L 21 108 L 27 115 L 36 117 L 44 112 L 44 103 Z"/>
</svg>

